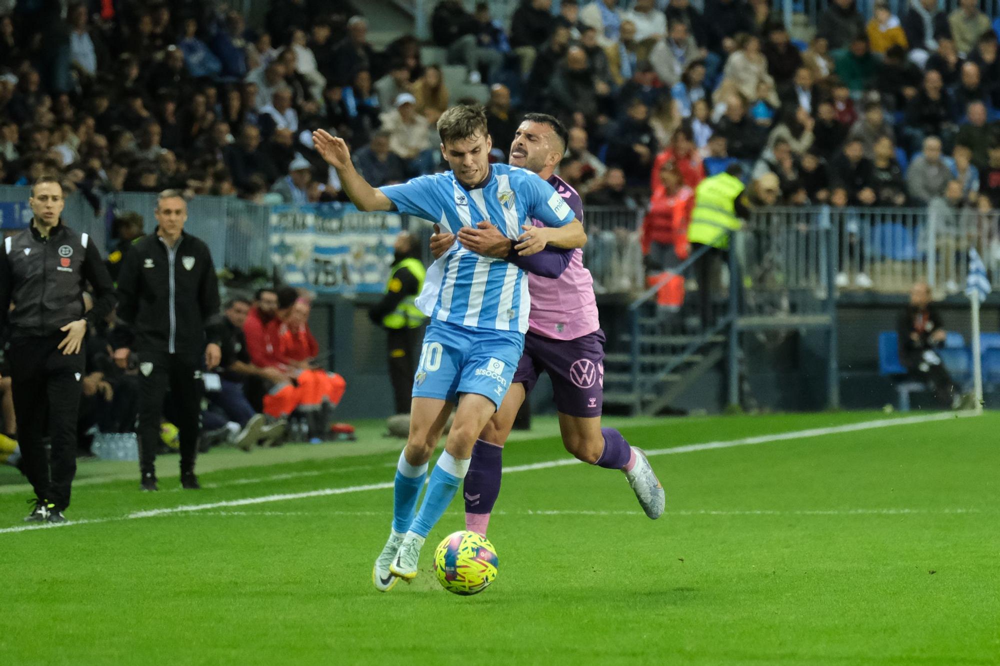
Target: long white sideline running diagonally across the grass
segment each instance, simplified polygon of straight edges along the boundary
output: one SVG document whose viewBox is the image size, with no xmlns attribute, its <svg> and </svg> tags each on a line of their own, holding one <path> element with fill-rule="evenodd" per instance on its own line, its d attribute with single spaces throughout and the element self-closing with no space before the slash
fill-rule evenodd
<svg viewBox="0 0 1000 666">
<path fill-rule="evenodd" d="M 712 449 L 727 449 L 736 446 L 749 446 L 753 444 L 765 444 L 768 442 L 782 442 L 790 439 L 805 439 L 810 437 L 821 437 L 823 435 L 834 435 L 845 432 L 857 432 L 859 430 L 873 430 L 876 428 L 888 428 L 897 425 L 912 425 L 916 423 L 929 423 L 932 421 L 946 421 L 955 418 L 965 418 L 978 416 L 975 411 L 966 412 L 943 412 L 938 414 L 926 414 L 921 416 L 904 416 L 894 419 L 879 419 L 877 421 L 862 421 L 860 423 L 849 423 L 840 426 L 830 426 L 827 428 L 810 428 L 808 430 L 793 430 L 791 432 L 774 433 L 770 435 L 757 435 L 754 437 L 743 437 L 741 439 L 720 440 L 714 442 L 703 442 L 701 444 L 687 444 L 666 449 L 653 449 L 646 451 L 647 456 L 669 455 L 675 453 L 691 453 L 694 451 L 708 451 Z M 577 464 L 580 461 L 576 458 L 561 458 L 559 460 L 548 460 L 545 462 L 531 463 L 529 465 L 515 465 L 504 468 L 504 473 L 526 472 L 536 469 L 549 469 L 552 467 L 563 467 L 565 465 Z M 55 527 L 68 527 L 70 525 L 89 525 L 95 523 L 106 523 L 120 520 L 135 520 L 138 518 L 152 518 L 154 516 L 164 516 L 174 513 L 185 513 L 191 511 L 205 511 L 209 509 L 221 509 L 229 506 L 250 506 L 254 504 L 266 504 L 270 502 L 283 502 L 286 500 L 308 499 L 311 497 L 326 497 L 329 495 L 345 495 L 348 493 L 360 493 L 368 490 L 387 490 L 393 487 L 393 482 L 369 483 L 359 486 L 345 486 L 341 488 L 323 488 L 320 490 L 310 490 L 300 493 L 279 493 L 275 495 L 264 495 L 263 497 L 246 497 L 238 500 L 226 500 L 222 502 L 210 502 L 208 504 L 185 504 L 182 506 L 165 507 L 162 509 L 150 509 L 148 511 L 134 511 L 125 516 L 116 518 L 92 518 L 83 520 L 70 520 L 65 523 L 28 524 L 0 529 L 0 534 L 14 534 L 18 532 L 31 532 L 34 530 L 51 529 Z M 884 510 L 883 510 L 884 511 Z M 956 510 L 956 513 L 963 511 Z M 538 512 L 535 512 L 536 514 Z M 638 512 L 637 512 L 638 513 Z M 543 514 L 544 515 L 544 514 Z M 553 514 L 558 515 L 558 514 Z M 564 514 L 567 515 L 567 514 Z M 581 513 L 580 515 L 589 515 Z M 600 515 L 599 513 L 595 515 Z M 677 515 L 683 515 L 678 513 Z M 708 514 L 706 514 L 708 515 Z M 748 514 L 749 515 L 749 514 Z M 803 514 L 807 515 L 807 514 Z"/>
</svg>

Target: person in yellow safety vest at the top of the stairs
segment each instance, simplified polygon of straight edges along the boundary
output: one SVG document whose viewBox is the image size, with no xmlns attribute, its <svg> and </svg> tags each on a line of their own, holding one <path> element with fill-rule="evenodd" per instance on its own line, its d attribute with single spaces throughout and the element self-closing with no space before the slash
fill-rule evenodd
<svg viewBox="0 0 1000 666">
<path fill-rule="evenodd" d="M 698 279 L 698 302 L 701 310 L 701 324 L 708 329 L 714 323 L 712 312 L 713 281 L 716 281 L 722 263 L 728 261 L 729 237 L 732 232 L 739 231 L 743 223 L 740 218 L 750 214 L 750 201 L 746 187 L 740 181 L 743 168 L 739 164 L 731 164 L 720 174 L 706 178 L 698 184 L 694 193 L 694 210 L 691 211 L 691 223 L 688 225 L 688 242 L 691 253 L 709 249 L 695 265 L 695 275 Z M 765 182 L 766 181 L 766 182 Z M 779 182 L 772 173 L 765 174 L 760 182 L 754 184 L 754 189 L 773 191 L 773 197 L 767 197 L 764 203 L 773 204 L 777 199 Z M 739 280 L 739 276 L 730 276 Z"/>
</svg>

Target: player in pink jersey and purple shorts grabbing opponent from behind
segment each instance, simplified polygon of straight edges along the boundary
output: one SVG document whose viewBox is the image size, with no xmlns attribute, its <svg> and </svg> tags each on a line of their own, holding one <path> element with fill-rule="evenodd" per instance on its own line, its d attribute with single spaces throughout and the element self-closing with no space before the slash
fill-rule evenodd
<svg viewBox="0 0 1000 666">
<path fill-rule="evenodd" d="M 566 128 L 556 118 L 528 114 L 514 135 L 509 163 L 547 180 L 576 218 L 583 221 L 580 196 L 554 174 L 566 151 L 567 136 Z M 453 234 L 437 233 L 431 239 L 432 250 L 435 255 L 441 254 L 454 241 Z M 487 224 L 461 229 L 458 241 L 488 256 L 505 256 L 510 250 L 510 240 Z M 464 482 L 466 529 L 486 535 L 490 513 L 500 494 L 503 445 L 542 371 L 552 379 L 566 450 L 591 465 L 622 470 L 646 515 L 655 519 L 663 513 L 663 487 L 646 456 L 629 446 L 616 429 L 601 427 L 604 333 L 598 322 L 593 279 L 583 267 L 582 258 L 583 252 L 574 250 L 569 266 L 559 277 L 528 276 L 531 313 L 524 354 L 500 409 L 472 450 Z"/>
</svg>

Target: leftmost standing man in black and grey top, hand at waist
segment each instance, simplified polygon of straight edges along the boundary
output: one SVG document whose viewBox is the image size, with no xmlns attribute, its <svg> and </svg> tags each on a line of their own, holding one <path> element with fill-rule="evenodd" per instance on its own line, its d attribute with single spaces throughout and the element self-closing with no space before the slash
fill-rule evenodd
<svg viewBox="0 0 1000 666">
<path fill-rule="evenodd" d="M 18 443 L 35 490 L 25 520 L 63 522 L 76 474 L 84 338 L 114 308 L 115 293 L 94 240 L 63 225 L 59 182 L 41 178 L 31 192 L 31 226 L 6 238 L 0 252 L 0 328 L 11 328 L 7 357 Z M 95 292 L 90 312 L 83 305 L 87 282 Z M 42 445 L 46 431 L 51 464 Z"/>
</svg>

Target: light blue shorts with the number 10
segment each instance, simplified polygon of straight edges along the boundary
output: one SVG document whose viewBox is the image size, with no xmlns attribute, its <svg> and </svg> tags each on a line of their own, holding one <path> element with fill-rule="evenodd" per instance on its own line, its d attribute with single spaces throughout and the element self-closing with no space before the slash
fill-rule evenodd
<svg viewBox="0 0 1000 666">
<path fill-rule="evenodd" d="M 413 377 L 413 397 L 457 403 L 460 393 L 478 393 L 499 407 L 523 351 L 524 335 L 518 331 L 432 319 Z"/>
</svg>

